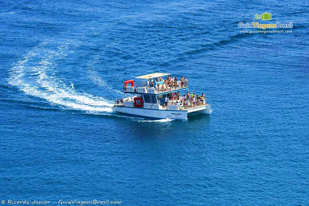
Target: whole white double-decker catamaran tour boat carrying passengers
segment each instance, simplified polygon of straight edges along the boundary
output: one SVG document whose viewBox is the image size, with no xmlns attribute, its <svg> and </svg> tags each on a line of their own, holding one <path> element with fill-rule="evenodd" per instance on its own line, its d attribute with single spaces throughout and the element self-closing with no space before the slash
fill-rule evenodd
<svg viewBox="0 0 309 206">
<path fill-rule="evenodd" d="M 123 82 L 125 96 L 115 100 L 116 112 L 158 119 L 186 120 L 192 114 L 210 114 L 210 105 L 202 95 L 193 96 L 189 81 L 167 73 L 153 73 Z M 180 91 L 185 91 L 180 95 Z"/>
</svg>

